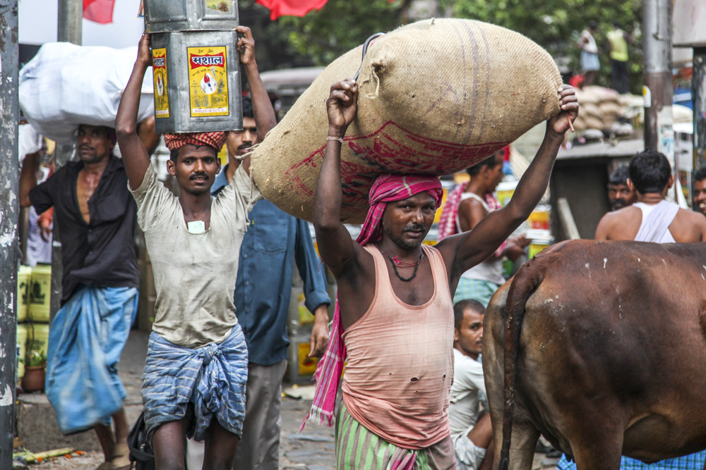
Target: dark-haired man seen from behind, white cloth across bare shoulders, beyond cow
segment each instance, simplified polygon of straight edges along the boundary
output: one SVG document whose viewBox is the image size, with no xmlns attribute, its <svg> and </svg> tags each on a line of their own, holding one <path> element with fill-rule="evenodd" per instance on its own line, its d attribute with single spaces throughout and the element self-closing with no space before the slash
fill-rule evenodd
<svg viewBox="0 0 706 470">
<path fill-rule="evenodd" d="M 706 218 L 664 199 L 674 184 L 666 156 L 647 149 L 633 157 L 628 171 L 628 186 L 637 192 L 638 202 L 604 215 L 596 229 L 596 240 L 654 243 L 706 240 Z"/>
</svg>

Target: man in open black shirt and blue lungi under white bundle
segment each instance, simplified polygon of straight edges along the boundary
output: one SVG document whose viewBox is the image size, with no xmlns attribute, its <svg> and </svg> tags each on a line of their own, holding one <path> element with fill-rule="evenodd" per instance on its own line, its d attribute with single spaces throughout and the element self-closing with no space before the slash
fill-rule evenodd
<svg viewBox="0 0 706 470">
<path fill-rule="evenodd" d="M 136 204 L 112 129 L 80 125 L 72 161 L 37 185 L 37 161 L 20 173 L 20 205 L 54 206 L 64 273 L 49 328 L 47 397 L 64 433 L 95 428 L 105 468 L 129 465 L 125 390 L 116 366 L 137 311 Z M 111 418 L 115 433 L 111 429 Z"/>
</svg>

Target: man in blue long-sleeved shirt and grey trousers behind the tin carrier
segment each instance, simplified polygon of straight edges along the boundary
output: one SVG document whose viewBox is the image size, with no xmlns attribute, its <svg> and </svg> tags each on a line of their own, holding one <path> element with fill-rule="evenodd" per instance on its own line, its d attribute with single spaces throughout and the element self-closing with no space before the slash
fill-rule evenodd
<svg viewBox="0 0 706 470">
<path fill-rule="evenodd" d="M 229 184 L 238 156 L 257 140 L 249 98 L 243 98 L 243 131 L 231 131 L 226 143 L 228 164 L 211 188 L 217 194 Z M 231 176 L 232 178 L 232 176 Z M 323 268 L 311 241 L 309 225 L 258 202 L 249 214 L 235 285 L 238 323 L 248 344 L 249 365 L 243 437 L 235 454 L 236 469 L 277 470 L 280 459 L 281 383 L 287 367 L 287 311 L 294 262 L 304 280 L 306 308 L 314 313 L 310 357 L 321 357 L 328 342 L 328 310 Z"/>
</svg>

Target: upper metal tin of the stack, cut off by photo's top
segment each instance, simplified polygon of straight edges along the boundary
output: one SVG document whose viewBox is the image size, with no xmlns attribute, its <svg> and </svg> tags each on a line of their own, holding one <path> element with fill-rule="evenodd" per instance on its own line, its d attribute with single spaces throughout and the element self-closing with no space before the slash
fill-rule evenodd
<svg viewBox="0 0 706 470">
<path fill-rule="evenodd" d="M 145 0 L 145 32 L 234 30 L 236 0 Z"/>
</svg>

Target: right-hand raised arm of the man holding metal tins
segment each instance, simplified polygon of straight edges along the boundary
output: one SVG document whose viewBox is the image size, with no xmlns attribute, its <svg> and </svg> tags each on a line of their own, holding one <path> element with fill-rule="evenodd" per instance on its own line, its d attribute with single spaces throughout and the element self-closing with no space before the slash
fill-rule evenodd
<svg viewBox="0 0 706 470">
<path fill-rule="evenodd" d="M 265 85 L 263 85 L 263 81 L 260 78 L 258 64 L 255 61 L 255 39 L 253 39 L 253 33 L 246 26 L 239 26 L 235 30 L 243 35 L 243 37 L 238 39 L 237 48 L 240 54 L 240 63 L 243 64 L 245 75 L 250 85 L 253 114 L 258 128 L 258 142 L 262 142 L 265 139 L 265 135 L 277 125 L 277 117 Z M 246 156 L 241 165 L 246 172 L 250 173 L 250 156 Z"/>
</svg>

